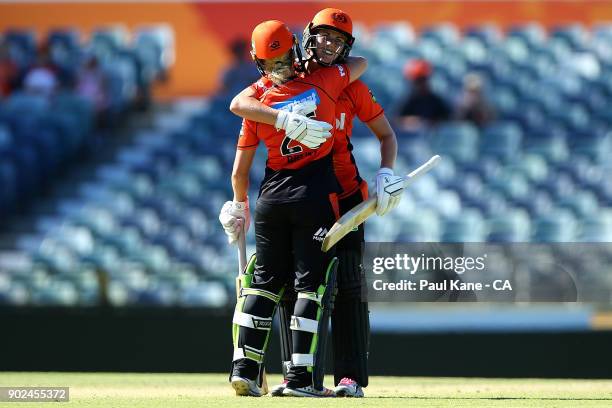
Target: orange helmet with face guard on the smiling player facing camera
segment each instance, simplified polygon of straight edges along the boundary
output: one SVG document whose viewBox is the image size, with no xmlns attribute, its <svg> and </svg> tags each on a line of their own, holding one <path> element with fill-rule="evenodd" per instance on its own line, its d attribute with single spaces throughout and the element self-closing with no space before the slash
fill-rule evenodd
<svg viewBox="0 0 612 408">
<path fill-rule="evenodd" d="M 334 63 L 338 60 L 343 60 L 346 58 L 349 52 L 351 52 L 351 48 L 355 42 L 355 37 L 353 37 L 353 21 L 351 20 L 351 17 L 340 9 L 326 8 L 315 14 L 312 21 L 308 23 L 304 29 L 304 34 L 302 36 L 302 46 L 304 47 L 304 50 L 310 51 L 312 58 L 314 58 L 319 64 L 329 65 L 321 63 L 321 61 L 317 59 L 316 53 L 314 52 L 314 49 L 316 48 L 314 36 L 316 35 L 316 31 L 322 28 L 337 31 L 347 37 L 346 44 L 339 52 Z"/>
</svg>

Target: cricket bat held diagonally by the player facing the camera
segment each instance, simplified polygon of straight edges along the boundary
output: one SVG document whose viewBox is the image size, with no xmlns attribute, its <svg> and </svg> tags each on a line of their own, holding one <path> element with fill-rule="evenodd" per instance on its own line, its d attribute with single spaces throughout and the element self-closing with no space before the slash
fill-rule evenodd
<svg viewBox="0 0 612 408">
<path fill-rule="evenodd" d="M 427 173 L 440 161 L 440 156 L 435 155 L 425 164 L 404 177 L 404 188 L 407 188 L 421 175 Z M 364 202 L 351 208 L 349 212 L 344 214 L 325 235 L 321 249 L 323 252 L 329 251 L 331 247 L 338 243 L 346 234 L 354 228 L 361 225 L 368 217 L 376 211 L 376 194 L 373 194 Z"/>
</svg>

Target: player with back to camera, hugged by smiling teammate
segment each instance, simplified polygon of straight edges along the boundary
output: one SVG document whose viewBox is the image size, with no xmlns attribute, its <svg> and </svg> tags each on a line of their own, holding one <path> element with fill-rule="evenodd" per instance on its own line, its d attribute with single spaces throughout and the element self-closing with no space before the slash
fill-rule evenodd
<svg viewBox="0 0 612 408">
<path fill-rule="evenodd" d="M 323 387 L 325 340 L 337 259 L 321 241 L 338 216 L 332 147 L 336 103 L 367 66 L 363 58 L 299 74 L 295 36 L 280 21 L 258 25 L 252 55 L 265 80 L 247 91 L 260 109 L 244 120 L 232 172 L 233 201 L 219 215 L 230 241 L 248 227 L 248 173 L 255 149 L 268 151 L 255 211 L 256 256 L 249 261 L 233 318 L 230 381 L 238 395 L 260 396 L 261 364 L 277 304 L 287 284 L 297 292 L 292 308 L 291 367 L 284 395 L 329 397 Z"/>
</svg>

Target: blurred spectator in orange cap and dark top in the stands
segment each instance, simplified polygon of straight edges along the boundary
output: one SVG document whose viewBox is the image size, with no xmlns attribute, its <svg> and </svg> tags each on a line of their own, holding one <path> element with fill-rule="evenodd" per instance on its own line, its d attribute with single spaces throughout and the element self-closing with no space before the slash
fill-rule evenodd
<svg viewBox="0 0 612 408">
<path fill-rule="evenodd" d="M 450 119 L 449 105 L 431 89 L 431 74 L 432 67 L 425 60 L 413 60 L 404 67 L 404 76 L 412 86 L 399 110 L 398 124 L 403 130 L 419 130 Z"/>
</svg>

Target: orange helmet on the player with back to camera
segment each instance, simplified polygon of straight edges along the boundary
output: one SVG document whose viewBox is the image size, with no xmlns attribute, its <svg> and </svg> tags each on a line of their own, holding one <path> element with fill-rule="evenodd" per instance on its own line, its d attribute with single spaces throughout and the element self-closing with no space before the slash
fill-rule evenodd
<svg viewBox="0 0 612 408">
<path fill-rule="evenodd" d="M 251 57 L 261 75 L 265 75 L 263 65 L 259 60 L 280 57 L 292 51 L 292 59 L 301 60 L 302 55 L 297 38 L 282 21 L 267 20 L 260 23 L 251 35 Z"/>
</svg>

